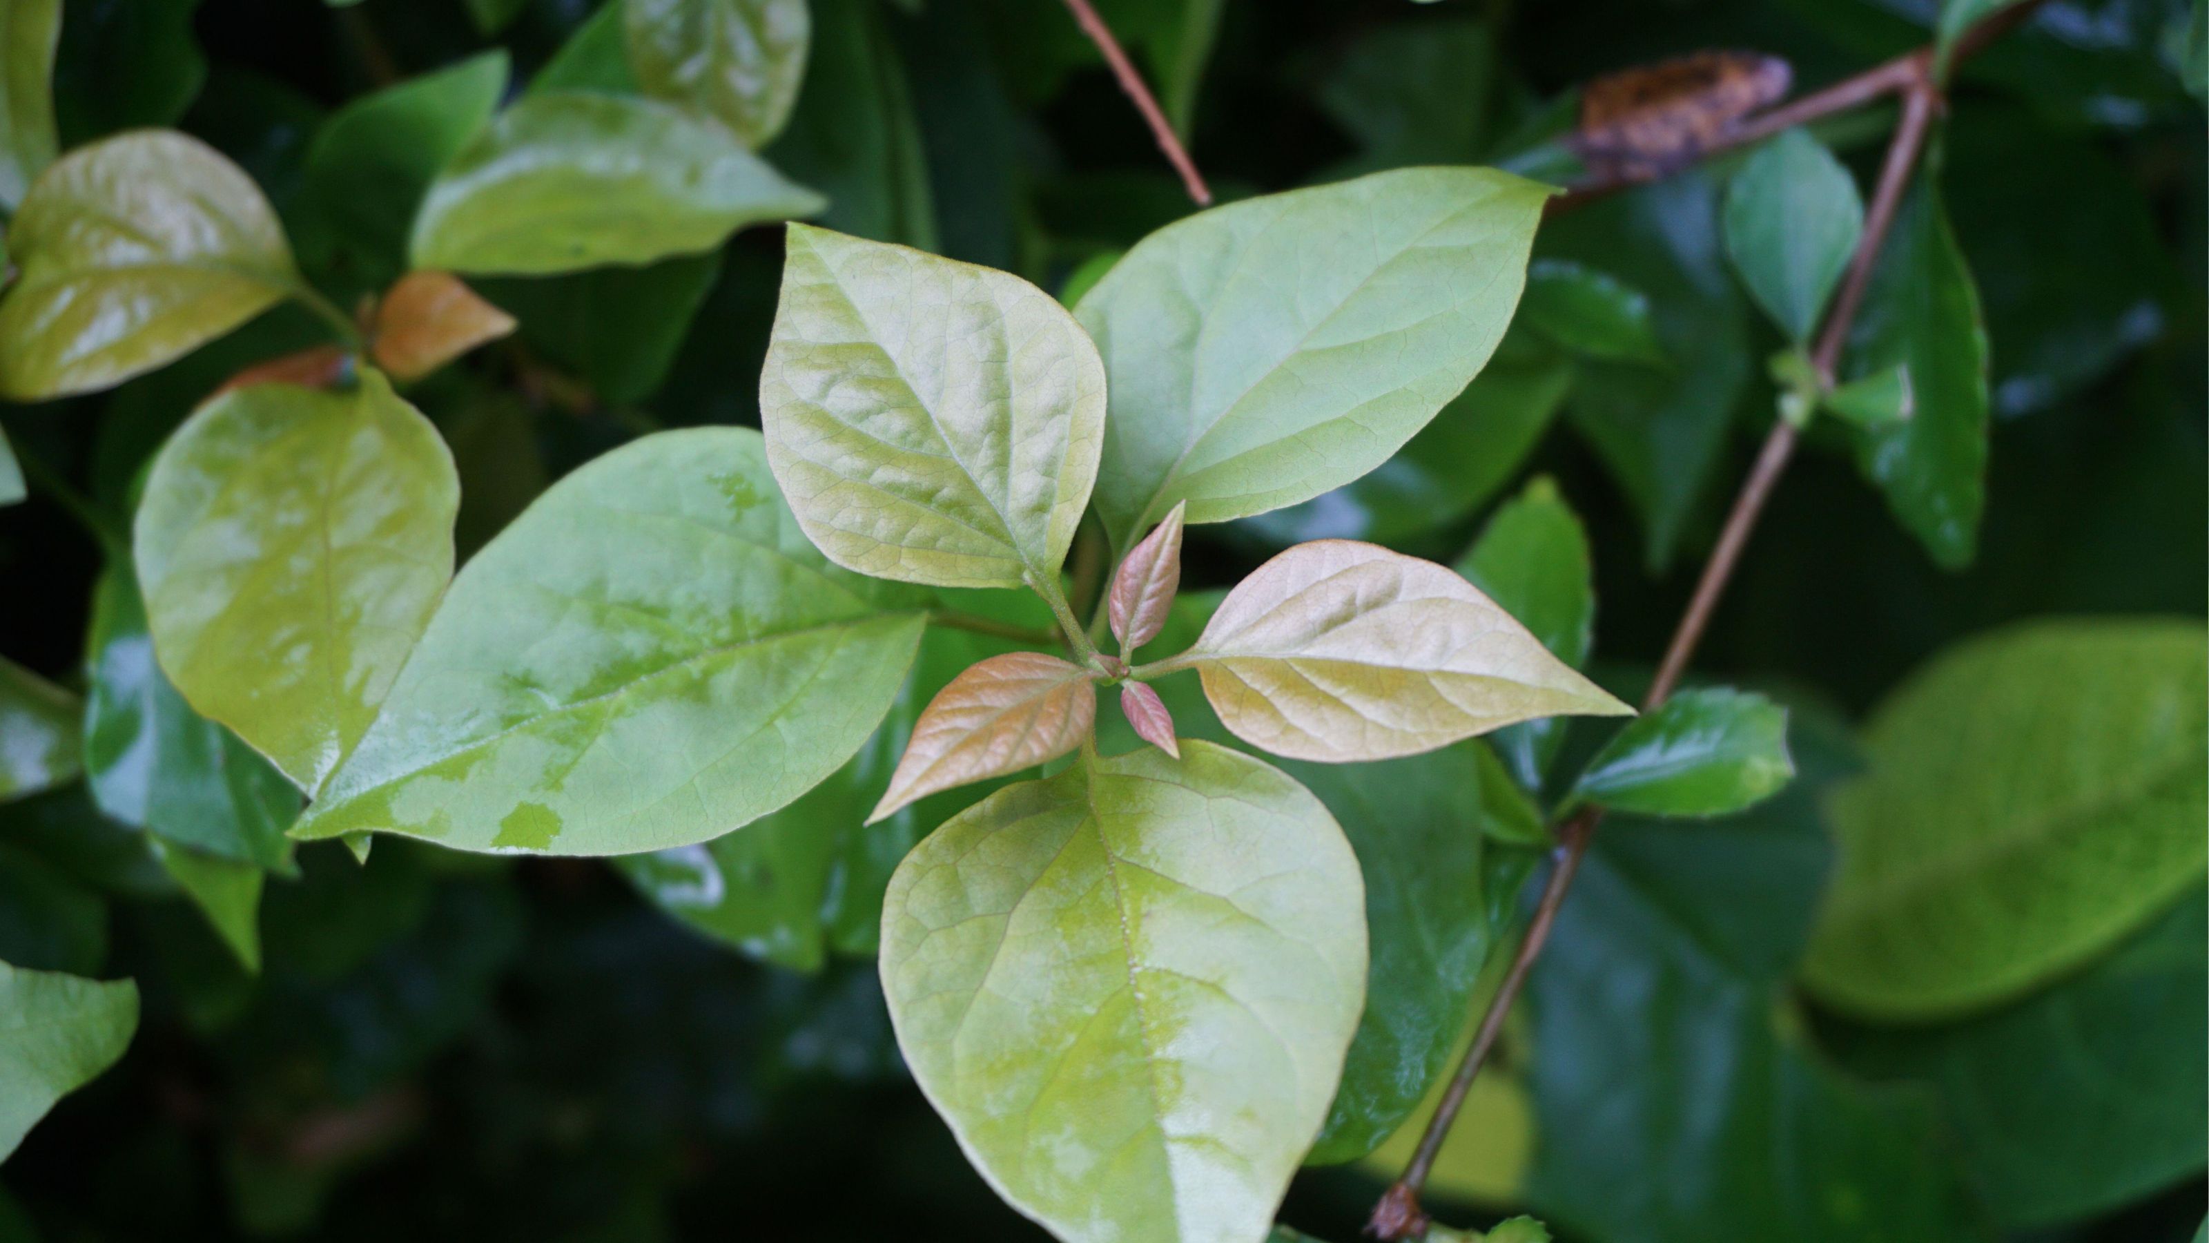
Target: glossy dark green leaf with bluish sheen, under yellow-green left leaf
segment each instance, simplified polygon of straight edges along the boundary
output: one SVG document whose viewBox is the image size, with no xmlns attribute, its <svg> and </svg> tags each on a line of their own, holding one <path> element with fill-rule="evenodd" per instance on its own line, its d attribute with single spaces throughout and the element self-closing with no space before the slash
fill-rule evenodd
<svg viewBox="0 0 2209 1243">
<path fill-rule="evenodd" d="M 298 790 L 170 686 L 130 566 L 99 577 L 84 648 L 84 774 L 99 809 L 181 847 L 281 867 Z"/>
</svg>

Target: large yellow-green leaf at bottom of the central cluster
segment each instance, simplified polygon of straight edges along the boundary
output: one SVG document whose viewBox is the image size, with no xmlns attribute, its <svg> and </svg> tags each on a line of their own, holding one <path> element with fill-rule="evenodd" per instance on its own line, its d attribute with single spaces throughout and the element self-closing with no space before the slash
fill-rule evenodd
<svg viewBox="0 0 2209 1243">
<path fill-rule="evenodd" d="M 1264 1239 L 1365 1000 L 1334 818 L 1188 741 L 992 794 L 890 880 L 881 982 L 912 1077 L 1069 1243 Z"/>
</svg>

